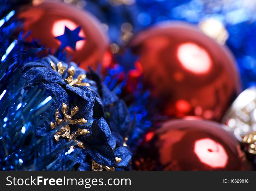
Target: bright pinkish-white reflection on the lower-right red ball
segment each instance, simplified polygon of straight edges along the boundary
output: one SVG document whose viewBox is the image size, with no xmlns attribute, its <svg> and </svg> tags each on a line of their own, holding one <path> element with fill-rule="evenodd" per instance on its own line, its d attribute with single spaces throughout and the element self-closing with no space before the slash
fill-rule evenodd
<svg viewBox="0 0 256 191">
<path fill-rule="evenodd" d="M 194 152 L 202 163 L 212 168 L 224 168 L 228 161 L 223 146 L 209 138 L 195 141 Z"/>
</svg>

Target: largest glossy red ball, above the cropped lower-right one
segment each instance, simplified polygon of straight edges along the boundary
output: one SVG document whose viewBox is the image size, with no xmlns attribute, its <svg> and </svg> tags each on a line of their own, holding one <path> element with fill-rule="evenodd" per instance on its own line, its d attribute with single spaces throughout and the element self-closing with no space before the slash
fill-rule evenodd
<svg viewBox="0 0 256 191">
<path fill-rule="evenodd" d="M 219 121 L 241 90 L 232 53 L 191 24 L 153 26 L 128 47 L 138 55 L 130 81 L 142 74 L 161 114 Z"/>
</svg>

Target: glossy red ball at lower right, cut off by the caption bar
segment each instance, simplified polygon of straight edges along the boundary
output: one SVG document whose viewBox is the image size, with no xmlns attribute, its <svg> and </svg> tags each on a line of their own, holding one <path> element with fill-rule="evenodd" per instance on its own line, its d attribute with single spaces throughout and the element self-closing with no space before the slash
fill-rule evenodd
<svg viewBox="0 0 256 191">
<path fill-rule="evenodd" d="M 251 170 L 238 140 L 205 120 L 175 119 L 145 135 L 134 170 Z"/>
</svg>

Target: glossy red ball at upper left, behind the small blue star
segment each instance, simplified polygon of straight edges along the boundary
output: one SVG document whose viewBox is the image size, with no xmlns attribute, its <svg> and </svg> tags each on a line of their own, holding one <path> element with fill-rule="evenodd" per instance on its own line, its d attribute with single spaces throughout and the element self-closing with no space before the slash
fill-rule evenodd
<svg viewBox="0 0 256 191">
<path fill-rule="evenodd" d="M 26 33 L 31 30 L 29 40 L 40 39 L 41 45 L 57 50 L 61 42 L 55 37 L 64 34 L 67 26 L 70 30 L 81 27 L 79 36 L 86 40 L 77 41 L 75 49 L 67 46 L 67 57 L 72 57 L 72 61 L 81 63 L 80 67 L 87 69 L 91 66 L 96 69 L 97 64 L 106 60 L 108 56 L 109 40 L 100 26 L 96 17 L 86 10 L 79 9 L 71 4 L 56 1 L 44 1 L 37 6 L 25 6 L 19 11 L 18 17 L 24 19 Z"/>
</svg>

